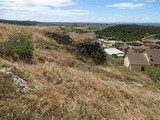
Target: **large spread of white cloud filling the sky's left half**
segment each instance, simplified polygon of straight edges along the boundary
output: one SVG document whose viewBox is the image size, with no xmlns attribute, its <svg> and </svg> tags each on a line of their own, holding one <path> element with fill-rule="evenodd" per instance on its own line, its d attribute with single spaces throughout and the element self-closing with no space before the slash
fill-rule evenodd
<svg viewBox="0 0 160 120">
<path fill-rule="evenodd" d="M 91 14 L 88 10 L 61 9 L 62 6 L 74 5 L 73 0 L 0 0 L 1 16 L 71 16 Z M 12 17 L 11 17 L 12 19 Z"/>
</svg>

